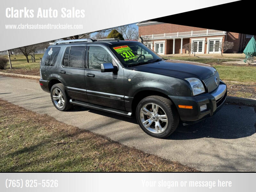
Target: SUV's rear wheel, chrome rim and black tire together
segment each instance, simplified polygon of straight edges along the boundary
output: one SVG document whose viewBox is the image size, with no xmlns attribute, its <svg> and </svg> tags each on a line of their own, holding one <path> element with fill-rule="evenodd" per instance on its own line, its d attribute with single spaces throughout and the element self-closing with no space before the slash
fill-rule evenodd
<svg viewBox="0 0 256 192">
<path fill-rule="evenodd" d="M 72 104 L 69 103 L 68 94 L 61 83 L 52 85 L 51 99 L 54 107 L 60 111 L 67 111 L 72 107 Z"/>
</svg>

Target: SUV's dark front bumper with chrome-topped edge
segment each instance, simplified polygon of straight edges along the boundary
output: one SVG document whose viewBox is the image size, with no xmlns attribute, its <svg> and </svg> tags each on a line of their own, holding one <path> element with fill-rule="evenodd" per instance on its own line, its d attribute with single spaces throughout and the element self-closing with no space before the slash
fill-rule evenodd
<svg viewBox="0 0 256 192">
<path fill-rule="evenodd" d="M 194 122 L 204 117 L 212 116 L 223 106 L 227 97 L 227 86 L 222 81 L 213 92 L 193 97 L 169 96 L 178 109 L 181 121 Z M 206 104 L 207 109 L 200 111 L 200 106 Z M 179 108 L 178 105 L 193 106 L 193 109 Z"/>
</svg>

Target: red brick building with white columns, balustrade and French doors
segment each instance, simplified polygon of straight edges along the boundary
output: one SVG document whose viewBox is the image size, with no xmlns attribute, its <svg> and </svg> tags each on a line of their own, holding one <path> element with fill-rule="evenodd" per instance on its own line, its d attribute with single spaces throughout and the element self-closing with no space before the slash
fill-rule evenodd
<svg viewBox="0 0 256 192">
<path fill-rule="evenodd" d="M 187 53 L 183 45 L 197 44 L 191 53 L 220 53 L 218 44 L 224 41 L 234 42 L 233 49 L 226 53 L 242 52 L 246 39 L 252 36 L 227 31 L 189 27 L 183 25 L 142 21 L 137 23 L 139 36 L 144 44 L 158 54 Z M 247 41 L 248 42 L 248 41 Z"/>
</svg>

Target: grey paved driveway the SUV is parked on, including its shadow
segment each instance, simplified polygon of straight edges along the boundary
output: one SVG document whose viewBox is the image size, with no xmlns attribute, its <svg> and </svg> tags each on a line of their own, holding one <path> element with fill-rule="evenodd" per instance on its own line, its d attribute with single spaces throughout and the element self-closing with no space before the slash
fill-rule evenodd
<svg viewBox="0 0 256 192">
<path fill-rule="evenodd" d="M 83 107 L 60 112 L 35 80 L 0 76 L 0 98 L 200 171 L 256 171 L 252 107 L 225 105 L 215 116 L 178 127 L 167 139 L 156 139 L 145 134 L 134 118 Z"/>
</svg>

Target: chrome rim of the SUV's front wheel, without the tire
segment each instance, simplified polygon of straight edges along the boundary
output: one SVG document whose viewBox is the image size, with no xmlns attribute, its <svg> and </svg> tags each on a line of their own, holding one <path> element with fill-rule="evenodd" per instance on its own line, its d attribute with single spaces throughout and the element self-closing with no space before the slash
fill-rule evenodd
<svg viewBox="0 0 256 192">
<path fill-rule="evenodd" d="M 168 118 L 159 105 L 147 103 L 140 109 L 140 121 L 150 132 L 162 133 L 168 125 Z"/>
</svg>

